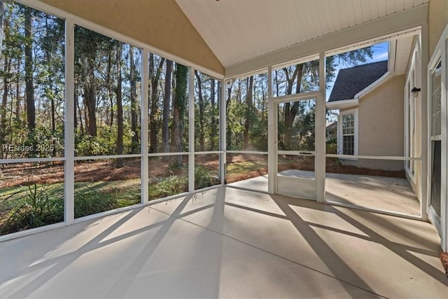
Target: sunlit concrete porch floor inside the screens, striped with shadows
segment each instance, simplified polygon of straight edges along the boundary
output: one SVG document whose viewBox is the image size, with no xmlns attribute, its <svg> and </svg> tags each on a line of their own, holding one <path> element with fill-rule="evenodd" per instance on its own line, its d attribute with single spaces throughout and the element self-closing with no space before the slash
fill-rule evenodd
<svg viewBox="0 0 448 299">
<path fill-rule="evenodd" d="M 447 298 L 432 225 L 221 187 L 0 244 L 0 298 Z"/>
</svg>

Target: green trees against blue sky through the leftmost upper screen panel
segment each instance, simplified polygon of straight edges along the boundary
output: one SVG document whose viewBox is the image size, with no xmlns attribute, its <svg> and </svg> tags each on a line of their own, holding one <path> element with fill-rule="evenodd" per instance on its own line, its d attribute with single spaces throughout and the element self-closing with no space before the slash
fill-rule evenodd
<svg viewBox="0 0 448 299">
<path fill-rule="evenodd" d="M 61 156 L 64 137 L 64 20 L 22 4 L 4 4 L 0 76 L 6 97 L 0 109 L 0 144 L 30 146 L 33 151 L 3 151 L 2 158 Z M 31 16 L 31 34 L 26 20 Z M 32 58 L 25 55 L 32 48 Z M 25 62 L 29 62 L 26 69 Z M 33 81 L 26 84 L 25 77 Z M 25 94 L 34 97 L 36 127 L 27 124 Z M 32 99 L 31 99 L 32 100 Z"/>
</svg>

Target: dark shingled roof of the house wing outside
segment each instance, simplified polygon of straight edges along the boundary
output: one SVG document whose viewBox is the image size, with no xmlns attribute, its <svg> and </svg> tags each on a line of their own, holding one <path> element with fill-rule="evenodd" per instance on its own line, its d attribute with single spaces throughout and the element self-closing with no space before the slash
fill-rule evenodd
<svg viewBox="0 0 448 299">
<path fill-rule="evenodd" d="M 361 90 L 377 81 L 387 72 L 387 60 L 339 69 L 328 102 L 353 99 Z"/>
</svg>

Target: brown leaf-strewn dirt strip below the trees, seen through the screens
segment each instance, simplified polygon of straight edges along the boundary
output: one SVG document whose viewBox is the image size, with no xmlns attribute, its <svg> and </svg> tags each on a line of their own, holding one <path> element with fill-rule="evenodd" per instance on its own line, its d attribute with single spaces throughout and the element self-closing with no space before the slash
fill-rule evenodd
<svg viewBox="0 0 448 299">
<path fill-rule="evenodd" d="M 218 155 L 197 155 L 195 162 L 206 169 L 218 169 Z M 228 174 L 227 181 L 232 183 L 251 179 L 255 176 L 267 174 L 266 155 L 228 154 L 227 163 L 256 162 L 255 169 L 241 174 Z M 329 159 L 330 160 L 330 159 Z M 335 160 L 336 161 L 336 160 Z M 353 166 L 339 165 L 335 161 L 327 163 L 326 172 L 339 174 L 364 174 L 370 176 L 405 177 L 404 171 L 389 172 L 379 169 L 365 169 Z M 139 158 L 127 158 L 124 167 L 116 168 L 116 160 L 88 160 L 75 163 L 75 181 L 120 181 L 139 179 L 141 167 Z M 188 164 L 188 157 L 183 158 L 184 165 Z M 264 167 L 263 167 L 264 166 Z M 249 166 L 248 166 L 249 167 Z M 168 176 L 170 174 L 185 173 L 185 168 L 170 167 L 169 158 L 150 158 L 149 169 L 151 176 Z M 281 157 L 279 172 L 286 169 L 302 169 L 314 171 L 314 159 L 303 157 Z M 61 183 L 64 181 L 64 162 L 18 163 L 0 165 L 0 188 L 32 185 L 34 183 Z"/>
</svg>

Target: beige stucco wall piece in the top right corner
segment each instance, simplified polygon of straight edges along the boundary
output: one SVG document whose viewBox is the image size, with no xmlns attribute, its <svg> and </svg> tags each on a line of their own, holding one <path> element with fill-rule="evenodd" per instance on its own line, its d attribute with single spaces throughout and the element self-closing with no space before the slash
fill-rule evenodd
<svg viewBox="0 0 448 299">
<path fill-rule="evenodd" d="M 448 0 L 429 0 L 428 33 L 429 57 L 433 55 L 435 46 L 448 24 Z"/>
</svg>

